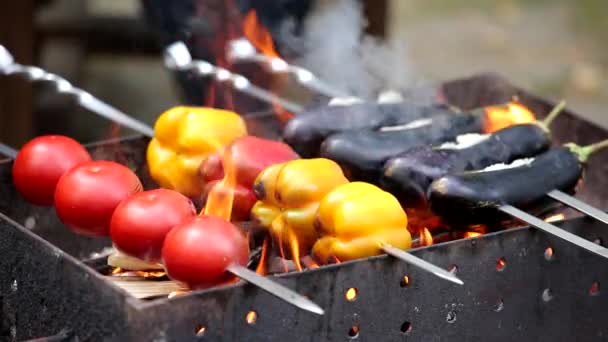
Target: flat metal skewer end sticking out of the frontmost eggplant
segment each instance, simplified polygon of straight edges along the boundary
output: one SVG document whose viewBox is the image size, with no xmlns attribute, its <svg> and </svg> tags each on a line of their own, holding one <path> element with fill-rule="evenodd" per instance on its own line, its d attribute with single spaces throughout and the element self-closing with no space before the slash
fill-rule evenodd
<svg viewBox="0 0 608 342">
<path fill-rule="evenodd" d="M 546 233 L 557 236 L 560 239 L 564 239 L 570 243 L 573 243 L 581 248 L 584 248 L 592 253 L 603 256 L 604 258 L 608 258 L 608 249 L 595 244 L 589 240 L 585 240 L 578 235 L 574 235 L 570 232 L 567 232 L 563 229 L 560 229 L 550 223 L 547 223 L 537 217 L 534 217 L 525 211 L 517 209 L 511 205 L 502 205 L 498 208 L 500 211 L 507 213 L 515 218 L 518 218 L 529 225 L 532 225 Z"/>
</svg>

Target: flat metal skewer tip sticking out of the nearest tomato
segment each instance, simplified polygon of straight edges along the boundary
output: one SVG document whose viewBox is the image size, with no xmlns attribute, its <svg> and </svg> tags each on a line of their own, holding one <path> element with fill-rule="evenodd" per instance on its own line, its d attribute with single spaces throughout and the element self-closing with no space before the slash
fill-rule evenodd
<svg viewBox="0 0 608 342">
<path fill-rule="evenodd" d="M 325 313 L 325 310 L 323 310 L 319 305 L 312 302 L 310 299 L 294 292 L 293 290 L 277 282 L 263 277 L 249 270 L 246 267 L 237 264 L 232 264 L 228 266 L 227 270 L 235 276 L 256 285 L 257 287 L 267 291 L 271 295 L 281 298 L 282 300 L 292 305 L 295 305 L 300 309 L 310 311 L 317 315 L 323 315 Z"/>
</svg>

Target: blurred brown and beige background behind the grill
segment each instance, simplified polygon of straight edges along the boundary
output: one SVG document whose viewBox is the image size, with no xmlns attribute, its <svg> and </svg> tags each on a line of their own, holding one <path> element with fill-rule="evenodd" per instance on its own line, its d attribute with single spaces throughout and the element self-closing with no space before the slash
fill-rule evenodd
<svg viewBox="0 0 608 342">
<path fill-rule="evenodd" d="M 324 9 L 332 7 L 339 15 Z M 18 62 L 62 75 L 152 125 L 176 104 L 209 104 L 212 87 L 209 80 L 170 73 L 162 47 L 188 40 L 196 57 L 221 64 L 217 47 L 197 35 L 217 42 L 220 33 L 240 28 L 251 9 L 282 56 L 328 81 L 344 81 L 355 93 L 368 90 L 360 84 L 388 82 L 389 75 L 389 85 L 403 89 L 493 71 L 536 94 L 565 98 L 608 127 L 605 0 L 2 1 L 0 44 Z M 371 40 L 351 46 L 349 39 L 362 35 Z M 239 110 L 257 110 L 244 101 Z M 90 142 L 112 132 L 107 121 L 52 88 L 0 76 L 1 142 L 19 148 L 46 133 Z"/>
</svg>

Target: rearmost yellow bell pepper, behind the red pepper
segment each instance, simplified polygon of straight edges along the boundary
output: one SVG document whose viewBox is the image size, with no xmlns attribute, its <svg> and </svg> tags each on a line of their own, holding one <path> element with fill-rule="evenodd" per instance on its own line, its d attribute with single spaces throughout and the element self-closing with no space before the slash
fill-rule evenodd
<svg viewBox="0 0 608 342">
<path fill-rule="evenodd" d="M 154 138 L 147 151 L 150 175 L 163 188 L 199 196 L 203 184 L 198 170 L 203 160 L 246 134 L 245 122 L 234 112 L 171 108 L 154 125 Z"/>
</svg>

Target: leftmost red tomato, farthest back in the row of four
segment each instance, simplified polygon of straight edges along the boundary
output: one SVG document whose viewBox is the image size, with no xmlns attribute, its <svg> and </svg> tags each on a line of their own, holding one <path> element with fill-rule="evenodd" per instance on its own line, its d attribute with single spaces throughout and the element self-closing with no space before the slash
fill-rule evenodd
<svg viewBox="0 0 608 342">
<path fill-rule="evenodd" d="M 91 160 L 78 141 L 62 135 L 45 135 L 25 144 L 13 163 L 17 191 L 36 205 L 53 205 L 59 178 L 74 166 Z"/>
</svg>

